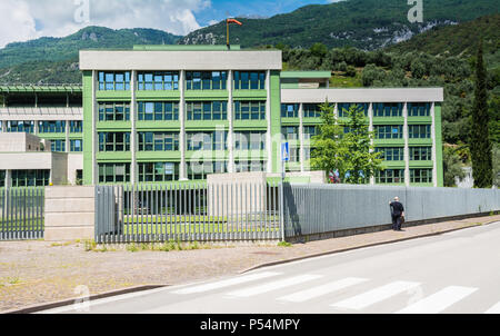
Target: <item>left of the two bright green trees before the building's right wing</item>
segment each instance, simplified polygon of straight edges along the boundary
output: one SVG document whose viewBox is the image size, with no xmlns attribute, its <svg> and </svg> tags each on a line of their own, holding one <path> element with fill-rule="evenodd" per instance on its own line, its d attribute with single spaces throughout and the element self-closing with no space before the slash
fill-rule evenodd
<svg viewBox="0 0 500 336">
<path fill-rule="evenodd" d="M 338 171 L 340 177 L 348 171 L 347 157 L 349 149 L 343 137 L 343 127 L 334 113 L 333 107 L 328 100 L 320 106 L 322 123 L 319 126 L 319 135 L 312 138 L 314 149 L 311 155 L 311 167 L 327 172 Z"/>
</svg>

